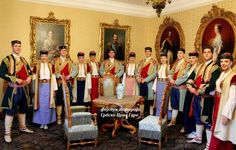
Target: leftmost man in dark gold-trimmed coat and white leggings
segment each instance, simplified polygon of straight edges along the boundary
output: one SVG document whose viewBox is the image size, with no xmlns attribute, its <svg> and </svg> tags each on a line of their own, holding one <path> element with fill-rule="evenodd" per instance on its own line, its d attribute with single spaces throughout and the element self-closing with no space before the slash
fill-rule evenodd
<svg viewBox="0 0 236 150">
<path fill-rule="evenodd" d="M 12 141 L 11 127 L 13 117 L 18 113 L 20 131 L 33 133 L 26 127 L 26 111 L 31 105 L 29 83 L 32 71 L 25 58 L 20 56 L 21 41 L 11 42 L 12 54 L 5 57 L 0 66 L 0 77 L 8 82 L 6 92 L 2 100 L 2 108 L 5 112 L 5 136 L 7 143 Z"/>
</svg>

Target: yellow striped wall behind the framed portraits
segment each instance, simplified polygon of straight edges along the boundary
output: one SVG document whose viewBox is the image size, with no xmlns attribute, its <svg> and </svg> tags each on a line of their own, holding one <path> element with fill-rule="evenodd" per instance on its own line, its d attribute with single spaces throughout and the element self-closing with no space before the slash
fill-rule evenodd
<svg viewBox="0 0 236 150">
<path fill-rule="evenodd" d="M 236 13 L 236 1 L 224 0 L 216 3 L 218 7 Z M 212 5 L 202 6 L 191 10 L 173 13 L 168 16 L 178 21 L 184 31 L 186 50 L 194 49 L 195 36 L 203 15 Z M 49 6 L 43 4 L 26 3 L 17 0 L 0 1 L 0 59 L 11 53 L 10 41 L 22 41 L 22 56 L 30 57 L 30 16 L 47 17 L 53 11 L 57 19 L 71 20 L 71 57 L 76 60 L 78 51 L 88 55 L 90 50 L 99 52 L 99 24 L 113 23 L 117 18 L 120 25 L 131 26 L 130 50 L 137 53 L 137 61 L 143 58 L 145 46 L 154 48 L 159 25 L 166 16 L 161 18 L 141 18 L 112 13 L 103 13 L 75 8 Z M 153 53 L 155 56 L 155 52 Z M 86 57 L 88 58 L 88 57 Z M 2 99 L 2 80 L 0 80 L 0 101 Z"/>
</svg>

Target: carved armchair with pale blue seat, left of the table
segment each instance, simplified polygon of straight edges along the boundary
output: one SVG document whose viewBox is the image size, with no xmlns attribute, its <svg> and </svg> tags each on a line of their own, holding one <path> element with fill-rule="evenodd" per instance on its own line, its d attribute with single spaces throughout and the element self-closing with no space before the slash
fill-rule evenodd
<svg viewBox="0 0 236 150">
<path fill-rule="evenodd" d="M 69 89 L 64 79 L 62 89 L 65 102 L 64 131 L 67 138 L 67 149 L 70 149 L 71 145 L 95 144 L 96 146 L 98 137 L 96 114 L 72 112 Z"/>
</svg>

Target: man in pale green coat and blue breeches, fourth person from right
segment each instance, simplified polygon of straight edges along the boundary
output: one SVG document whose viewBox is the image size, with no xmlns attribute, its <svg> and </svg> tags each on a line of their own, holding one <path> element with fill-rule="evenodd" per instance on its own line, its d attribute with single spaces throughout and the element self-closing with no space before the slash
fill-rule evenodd
<svg viewBox="0 0 236 150">
<path fill-rule="evenodd" d="M 170 83 L 172 85 L 170 91 L 170 100 L 172 107 L 171 121 L 168 126 L 173 126 L 176 124 L 176 118 L 179 111 L 183 112 L 184 99 L 186 94 L 186 79 L 182 78 L 185 75 L 188 62 L 185 59 L 185 49 L 180 48 L 177 51 L 177 60 L 170 70 L 170 75 L 168 76 Z"/>
</svg>

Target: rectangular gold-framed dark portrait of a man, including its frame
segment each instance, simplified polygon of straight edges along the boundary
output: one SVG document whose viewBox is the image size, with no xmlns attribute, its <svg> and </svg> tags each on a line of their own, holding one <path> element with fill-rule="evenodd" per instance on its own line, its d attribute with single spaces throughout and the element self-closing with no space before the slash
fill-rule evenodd
<svg viewBox="0 0 236 150">
<path fill-rule="evenodd" d="M 110 49 L 115 51 L 115 58 L 126 62 L 130 48 L 130 26 L 119 25 L 116 19 L 113 24 L 100 23 L 100 60 L 108 59 Z"/>
</svg>

